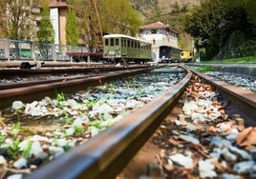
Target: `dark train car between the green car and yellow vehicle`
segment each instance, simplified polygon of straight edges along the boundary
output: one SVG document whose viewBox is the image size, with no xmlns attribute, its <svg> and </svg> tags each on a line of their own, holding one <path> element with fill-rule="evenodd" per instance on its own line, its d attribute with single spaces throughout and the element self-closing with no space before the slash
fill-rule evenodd
<svg viewBox="0 0 256 179">
<path fill-rule="evenodd" d="M 181 50 L 171 46 L 160 46 L 160 63 L 180 62 Z"/>
</svg>

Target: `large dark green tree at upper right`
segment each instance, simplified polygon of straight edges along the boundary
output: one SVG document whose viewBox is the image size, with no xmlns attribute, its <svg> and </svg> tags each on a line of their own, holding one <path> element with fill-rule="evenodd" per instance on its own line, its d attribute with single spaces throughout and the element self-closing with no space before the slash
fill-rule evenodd
<svg viewBox="0 0 256 179">
<path fill-rule="evenodd" d="M 255 25 L 249 20 L 245 6 L 229 1 L 203 0 L 201 7 L 193 9 L 185 18 L 184 30 L 194 37 L 197 49 L 205 50 L 207 59 L 219 52 L 223 56 L 224 45 L 234 31 L 243 32 L 245 41 L 256 38 Z"/>
</svg>

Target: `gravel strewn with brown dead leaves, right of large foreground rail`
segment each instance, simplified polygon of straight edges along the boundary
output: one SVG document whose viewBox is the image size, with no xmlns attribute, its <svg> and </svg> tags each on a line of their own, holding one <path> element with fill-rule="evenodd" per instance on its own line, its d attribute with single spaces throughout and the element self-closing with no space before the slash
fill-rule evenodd
<svg viewBox="0 0 256 179">
<path fill-rule="evenodd" d="M 242 100 L 246 107 L 240 108 L 236 97 L 228 98 L 227 90 L 240 98 L 249 96 Z M 256 124 L 250 113 L 255 99 L 254 92 L 195 75 L 177 106 L 117 179 L 254 178 Z"/>
</svg>

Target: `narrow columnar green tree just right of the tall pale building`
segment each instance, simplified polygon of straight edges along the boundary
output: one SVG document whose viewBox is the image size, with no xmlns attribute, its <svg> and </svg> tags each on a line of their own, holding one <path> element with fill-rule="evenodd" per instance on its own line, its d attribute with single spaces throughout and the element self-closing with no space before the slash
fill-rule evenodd
<svg viewBox="0 0 256 179">
<path fill-rule="evenodd" d="M 66 39 L 67 45 L 76 46 L 78 44 L 78 32 L 75 19 L 75 12 L 70 7 L 68 8 L 67 22 L 66 22 Z"/>
</svg>

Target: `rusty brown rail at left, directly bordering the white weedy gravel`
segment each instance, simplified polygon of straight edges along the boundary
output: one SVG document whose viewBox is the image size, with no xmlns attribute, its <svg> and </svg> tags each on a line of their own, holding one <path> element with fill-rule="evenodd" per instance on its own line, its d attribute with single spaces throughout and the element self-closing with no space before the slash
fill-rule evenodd
<svg viewBox="0 0 256 179">
<path fill-rule="evenodd" d="M 15 89 L 0 90 L 0 109 L 11 106 L 13 101 L 21 100 L 23 102 L 32 102 L 38 98 L 45 96 L 54 97 L 58 92 L 74 93 L 79 89 L 102 85 L 103 83 L 117 79 L 119 77 L 131 76 L 139 74 L 146 70 L 152 70 L 156 67 L 138 70 L 121 70 L 109 73 L 101 73 L 93 77 L 84 77 L 81 79 L 53 82 L 48 84 L 34 85 L 30 87 L 21 87 Z"/>
</svg>

